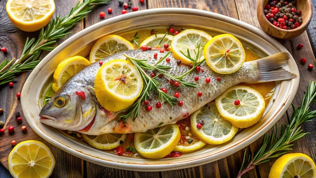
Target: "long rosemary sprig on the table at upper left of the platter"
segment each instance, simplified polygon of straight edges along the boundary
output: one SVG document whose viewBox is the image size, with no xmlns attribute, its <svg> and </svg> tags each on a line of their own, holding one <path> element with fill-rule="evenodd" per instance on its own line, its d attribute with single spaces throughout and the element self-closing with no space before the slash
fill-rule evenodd
<svg viewBox="0 0 316 178">
<path fill-rule="evenodd" d="M 74 6 L 65 17 L 52 19 L 46 28 L 42 28 L 38 38 L 26 38 L 20 59 L 7 59 L 0 63 L 0 85 L 14 81 L 17 74 L 32 70 L 38 63 L 43 51 L 51 51 L 57 39 L 71 33 L 71 29 L 96 6 L 108 4 L 110 0 L 83 0 Z M 13 64 L 12 64 L 13 63 Z"/>
</svg>

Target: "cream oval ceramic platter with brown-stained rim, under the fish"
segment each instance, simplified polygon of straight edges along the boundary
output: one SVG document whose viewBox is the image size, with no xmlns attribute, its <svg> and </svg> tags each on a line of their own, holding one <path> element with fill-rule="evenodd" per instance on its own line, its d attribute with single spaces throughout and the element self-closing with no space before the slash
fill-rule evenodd
<svg viewBox="0 0 316 178">
<path fill-rule="evenodd" d="M 277 82 L 275 94 L 267 106 L 259 123 L 242 129 L 230 141 L 222 145 L 207 145 L 202 150 L 183 154 L 177 158 L 149 160 L 117 156 L 114 153 L 94 149 L 83 142 L 66 137 L 59 130 L 39 121 L 44 93 L 51 82 L 57 65 L 74 55 L 87 56 L 96 39 L 107 34 L 123 34 L 130 30 L 154 27 L 199 28 L 217 33 L 231 33 L 251 46 L 261 49 L 267 55 L 287 50 L 265 32 L 239 20 L 212 12 L 185 9 L 163 8 L 142 10 L 120 15 L 94 24 L 65 40 L 50 52 L 31 72 L 26 80 L 21 103 L 24 116 L 31 128 L 44 140 L 81 159 L 102 166 L 134 170 L 163 171 L 198 166 L 225 158 L 256 141 L 264 135 L 286 112 L 291 105 L 299 84 L 299 71 L 293 58 L 284 66 L 297 75 L 296 78 Z M 272 102 L 274 101 L 274 102 Z"/>
</svg>

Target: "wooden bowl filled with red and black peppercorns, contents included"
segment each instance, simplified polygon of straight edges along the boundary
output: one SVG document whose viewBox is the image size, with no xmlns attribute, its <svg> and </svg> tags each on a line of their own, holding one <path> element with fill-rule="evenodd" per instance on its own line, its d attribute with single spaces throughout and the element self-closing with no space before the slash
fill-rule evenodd
<svg viewBox="0 0 316 178">
<path fill-rule="evenodd" d="M 278 39 L 302 34 L 312 17 L 310 0 L 259 0 L 257 17 L 261 29 Z"/>
</svg>

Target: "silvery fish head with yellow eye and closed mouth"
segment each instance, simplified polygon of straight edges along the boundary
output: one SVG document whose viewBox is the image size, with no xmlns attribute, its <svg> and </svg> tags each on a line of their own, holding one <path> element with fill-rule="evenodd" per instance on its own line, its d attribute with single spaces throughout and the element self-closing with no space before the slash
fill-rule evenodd
<svg viewBox="0 0 316 178">
<path fill-rule="evenodd" d="M 43 106 L 40 122 L 62 130 L 86 129 L 93 124 L 96 107 L 92 86 L 66 87 Z"/>
</svg>

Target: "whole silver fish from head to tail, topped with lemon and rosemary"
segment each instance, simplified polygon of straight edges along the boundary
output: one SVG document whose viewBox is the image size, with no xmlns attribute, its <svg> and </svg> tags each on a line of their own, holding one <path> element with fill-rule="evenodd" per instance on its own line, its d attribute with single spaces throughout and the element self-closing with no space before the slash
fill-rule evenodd
<svg viewBox="0 0 316 178">
<path fill-rule="evenodd" d="M 158 54 L 154 58 L 154 54 Z M 161 57 L 166 55 L 161 51 L 131 50 L 104 58 L 102 61 L 113 59 L 126 59 L 123 55 L 136 59 L 146 59 L 148 64 L 154 65 Z M 190 69 L 187 65 L 177 64 L 172 53 L 169 54 L 170 62 L 162 61 L 161 65 L 171 66 L 168 72 L 174 76 L 180 76 Z M 150 94 L 148 99 L 152 110 L 146 111 L 145 105 L 141 105 L 139 115 L 134 120 L 129 118 L 122 122 L 120 112 L 110 112 L 102 108 L 94 93 L 94 78 L 100 65 L 98 62 L 87 66 L 82 71 L 70 78 L 59 91 L 43 106 L 40 111 L 40 121 L 62 130 L 72 130 L 87 135 L 101 135 L 103 133 L 132 133 L 144 132 L 159 126 L 176 123 L 205 104 L 213 101 L 231 86 L 241 82 L 255 83 L 277 80 L 288 80 L 296 75 L 282 68 L 282 65 L 289 59 L 289 54 L 282 52 L 259 60 L 244 62 L 243 66 L 232 74 L 219 74 L 210 69 L 206 63 L 200 65 L 201 71 L 192 71 L 184 76 L 184 80 L 196 83 L 196 87 L 176 87 L 170 83 L 169 78 L 156 77 L 160 88 L 167 88 L 167 94 L 174 96 L 179 92 L 179 101 L 182 106 L 171 106 L 167 102 L 158 99 Z M 152 71 L 147 71 L 148 74 Z M 199 79 L 195 81 L 194 77 Z M 206 82 L 205 78 L 210 78 Z M 201 92 L 202 96 L 197 93 Z M 78 95 L 80 93 L 80 95 Z M 82 96 L 84 94 L 84 96 Z M 161 102 L 161 108 L 155 104 Z"/>
</svg>

